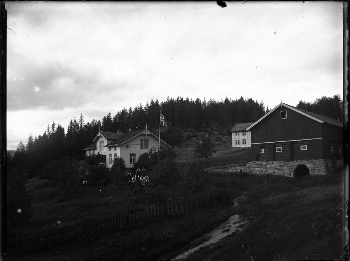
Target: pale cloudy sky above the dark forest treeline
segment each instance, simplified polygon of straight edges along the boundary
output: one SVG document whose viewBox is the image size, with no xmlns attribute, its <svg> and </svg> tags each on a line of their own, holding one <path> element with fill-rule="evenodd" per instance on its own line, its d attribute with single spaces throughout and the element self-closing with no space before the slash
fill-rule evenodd
<svg viewBox="0 0 350 261">
<path fill-rule="evenodd" d="M 342 2 L 5 3 L 8 150 L 167 96 L 342 96 Z"/>
</svg>

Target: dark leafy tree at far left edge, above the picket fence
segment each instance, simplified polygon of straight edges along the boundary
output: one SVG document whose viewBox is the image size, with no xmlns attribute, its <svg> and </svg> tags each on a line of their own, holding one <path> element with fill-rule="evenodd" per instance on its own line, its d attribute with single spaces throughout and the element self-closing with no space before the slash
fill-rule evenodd
<svg viewBox="0 0 350 261">
<path fill-rule="evenodd" d="M 17 230 L 25 226 L 33 215 L 31 196 L 26 190 L 26 175 L 20 168 L 14 168 L 7 175 L 7 226 Z"/>
</svg>

